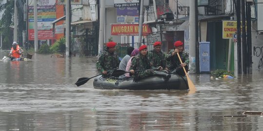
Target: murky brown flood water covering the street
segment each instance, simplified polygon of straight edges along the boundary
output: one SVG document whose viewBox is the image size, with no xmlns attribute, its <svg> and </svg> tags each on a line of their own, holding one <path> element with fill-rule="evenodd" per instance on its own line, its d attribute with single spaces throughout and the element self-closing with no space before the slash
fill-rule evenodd
<svg viewBox="0 0 263 131">
<path fill-rule="evenodd" d="M 9 52 L 0 52 L 0 58 Z M 178 90 L 99 90 L 96 59 L 0 61 L 0 131 L 262 131 L 263 74 L 210 80 L 190 74 L 195 94 Z"/>
</svg>

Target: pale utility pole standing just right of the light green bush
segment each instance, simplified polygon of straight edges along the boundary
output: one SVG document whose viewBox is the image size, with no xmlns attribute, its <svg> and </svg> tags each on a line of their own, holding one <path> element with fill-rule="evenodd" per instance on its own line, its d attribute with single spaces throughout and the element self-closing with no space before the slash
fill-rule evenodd
<svg viewBox="0 0 263 131">
<path fill-rule="evenodd" d="M 71 36 L 70 36 L 70 28 L 71 28 L 71 0 L 66 1 L 66 57 L 71 57 L 70 49 L 71 49 Z"/>
</svg>

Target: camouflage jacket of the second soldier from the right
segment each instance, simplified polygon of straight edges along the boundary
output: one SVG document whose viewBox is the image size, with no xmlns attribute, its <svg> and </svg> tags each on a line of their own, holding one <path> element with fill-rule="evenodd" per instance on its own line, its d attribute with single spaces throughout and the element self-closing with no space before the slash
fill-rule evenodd
<svg viewBox="0 0 263 131">
<path fill-rule="evenodd" d="M 155 69 L 158 66 L 162 66 L 163 68 L 167 67 L 165 53 L 162 51 L 158 53 L 154 49 L 150 50 L 148 52 L 148 59 L 150 61 L 151 69 Z"/>
</svg>

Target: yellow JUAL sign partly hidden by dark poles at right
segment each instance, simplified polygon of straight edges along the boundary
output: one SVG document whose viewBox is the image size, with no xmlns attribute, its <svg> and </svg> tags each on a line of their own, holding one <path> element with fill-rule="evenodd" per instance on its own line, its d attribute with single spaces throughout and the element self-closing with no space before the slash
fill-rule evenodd
<svg viewBox="0 0 263 131">
<path fill-rule="evenodd" d="M 223 21 L 223 39 L 232 39 L 235 33 L 237 33 L 237 21 Z"/>
</svg>

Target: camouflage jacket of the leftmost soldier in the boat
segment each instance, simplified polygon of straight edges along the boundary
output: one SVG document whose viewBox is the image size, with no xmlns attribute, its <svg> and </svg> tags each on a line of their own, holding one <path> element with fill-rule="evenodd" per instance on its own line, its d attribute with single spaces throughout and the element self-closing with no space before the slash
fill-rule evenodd
<svg viewBox="0 0 263 131">
<path fill-rule="evenodd" d="M 118 68 L 120 64 L 119 57 L 116 52 L 110 53 L 107 49 L 103 51 L 96 62 L 96 67 L 99 73 L 106 70 L 112 70 Z"/>
</svg>

